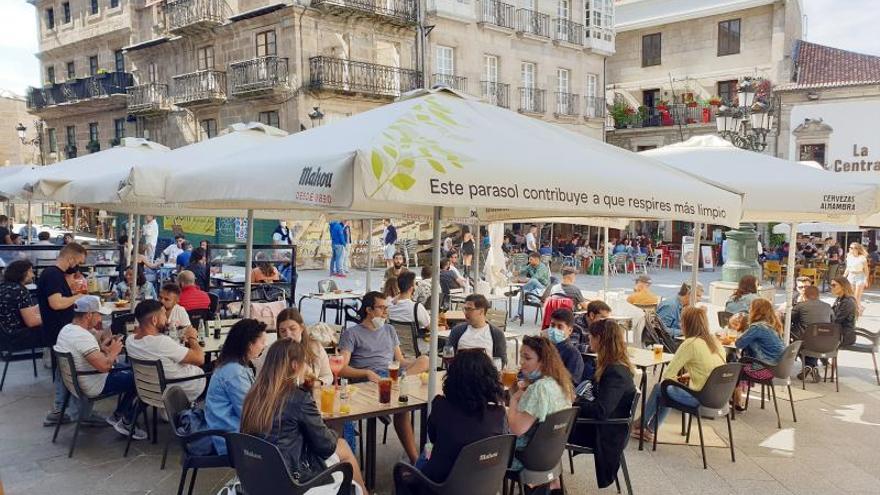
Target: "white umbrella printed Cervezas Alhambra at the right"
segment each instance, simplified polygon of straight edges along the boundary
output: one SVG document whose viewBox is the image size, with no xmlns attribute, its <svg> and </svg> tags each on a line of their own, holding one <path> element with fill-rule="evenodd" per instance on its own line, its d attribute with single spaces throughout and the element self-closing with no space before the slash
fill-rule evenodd
<svg viewBox="0 0 880 495">
<path fill-rule="evenodd" d="M 682 143 L 641 153 L 707 181 L 743 193 L 742 221 L 787 222 L 791 238 L 799 222 L 858 225 L 877 211 L 877 186 L 852 182 L 825 170 L 735 147 L 718 136 L 697 136 Z M 694 234 L 699 253 L 699 228 Z M 791 286 L 795 256 L 788 257 L 785 341 L 791 328 Z M 696 281 L 698 263 L 693 264 Z"/>
</svg>

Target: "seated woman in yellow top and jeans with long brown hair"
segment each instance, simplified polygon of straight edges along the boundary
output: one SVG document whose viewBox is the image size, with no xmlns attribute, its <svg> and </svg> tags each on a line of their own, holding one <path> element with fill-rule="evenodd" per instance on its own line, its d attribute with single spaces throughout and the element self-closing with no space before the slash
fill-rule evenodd
<svg viewBox="0 0 880 495">
<path fill-rule="evenodd" d="M 680 371 L 686 370 L 690 378 L 688 387 L 691 390 L 702 390 L 712 370 L 727 361 L 724 347 L 709 332 L 709 319 L 704 308 L 693 306 L 684 308 L 681 312 L 681 330 L 685 336 L 684 342 L 678 347 L 672 362 L 666 367 L 663 379 L 675 380 Z M 697 405 L 696 399 L 687 392 L 675 387 L 669 387 L 666 391 L 678 403 L 688 406 Z M 636 438 L 643 436 L 646 441 L 654 440 L 654 433 L 669 414 L 669 408 L 658 407 L 659 401 L 660 385 L 656 385 L 648 398 L 647 411 L 643 412 L 648 419 L 645 431 L 642 432 L 638 427 L 641 424 L 640 420 L 636 420 L 636 426 L 633 427 L 633 435 Z"/>
</svg>

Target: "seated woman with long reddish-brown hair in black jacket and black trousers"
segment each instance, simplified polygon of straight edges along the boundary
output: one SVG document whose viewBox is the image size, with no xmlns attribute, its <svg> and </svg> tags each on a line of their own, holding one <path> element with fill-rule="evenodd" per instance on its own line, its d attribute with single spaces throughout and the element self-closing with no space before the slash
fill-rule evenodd
<svg viewBox="0 0 880 495">
<path fill-rule="evenodd" d="M 636 387 L 634 368 L 626 353 L 626 337 L 614 320 L 599 320 L 590 325 L 590 348 L 597 355 L 592 380 L 577 389 L 575 405 L 578 417 L 606 420 L 628 418 Z M 569 442 L 590 447 L 596 455 L 596 480 L 605 488 L 617 479 L 620 457 L 626 445 L 626 425 L 575 425 Z M 601 433 L 601 435 L 599 434 Z"/>
</svg>

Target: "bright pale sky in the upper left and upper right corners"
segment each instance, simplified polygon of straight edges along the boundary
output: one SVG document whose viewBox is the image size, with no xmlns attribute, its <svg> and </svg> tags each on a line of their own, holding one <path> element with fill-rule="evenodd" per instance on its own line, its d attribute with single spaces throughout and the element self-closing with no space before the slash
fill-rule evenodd
<svg viewBox="0 0 880 495">
<path fill-rule="evenodd" d="M 543 0 L 550 1 L 550 0 Z M 807 15 L 807 39 L 871 55 L 880 55 L 878 0 L 801 0 Z M 0 0 L 0 90 L 24 94 L 40 84 L 35 8 L 25 0 Z"/>
</svg>

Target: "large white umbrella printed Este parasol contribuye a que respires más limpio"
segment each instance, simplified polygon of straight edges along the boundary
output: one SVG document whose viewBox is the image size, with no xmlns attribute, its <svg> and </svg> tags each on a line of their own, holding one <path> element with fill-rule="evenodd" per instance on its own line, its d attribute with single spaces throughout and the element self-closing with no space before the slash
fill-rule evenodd
<svg viewBox="0 0 880 495">
<path fill-rule="evenodd" d="M 448 89 L 417 91 L 341 122 L 178 170 L 166 201 L 199 208 L 432 214 L 431 379 L 442 217 L 602 216 L 736 225 L 741 198 L 689 174 Z M 253 177 L 272 180 L 254 181 Z M 502 220 L 496 218 L 495 220 Z"/>
</svg>

